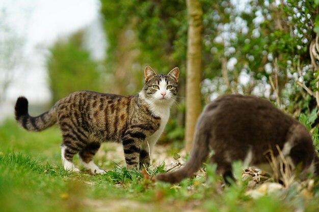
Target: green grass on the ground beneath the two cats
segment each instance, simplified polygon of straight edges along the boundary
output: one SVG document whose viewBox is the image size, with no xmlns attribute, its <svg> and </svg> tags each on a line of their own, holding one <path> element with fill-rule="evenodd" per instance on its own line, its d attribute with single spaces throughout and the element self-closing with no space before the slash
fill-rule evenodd
<svg viewBox="0 0 319 212">
<path fill-rule="evenodd" d="M 127 170 L 105 161 L 105 175 L 63 170 L 61 134 L 57 128 L 26 132 L 15 122 L 0 127 L 1 211 L 319 211 L 319 186 L 309 193 L 300 184 L 283 191 L 252 198 L 248 183 L 222 188 L 215 166 L 204 176 L 185 179 L 179 185 L 154 182 L 164 164 L 146 172 Z M 107 167 L 105 167 L 107 166 Z M 240 165 L 235 164 L 240 178 Z"/>
</svg>

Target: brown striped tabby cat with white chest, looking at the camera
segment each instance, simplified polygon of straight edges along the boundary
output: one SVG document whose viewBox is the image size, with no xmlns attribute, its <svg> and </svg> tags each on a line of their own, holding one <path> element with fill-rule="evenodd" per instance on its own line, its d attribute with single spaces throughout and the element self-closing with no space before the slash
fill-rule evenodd
<svg viewBox="0 0 319 212">
<path fill-rule="evenodd" d="M 176 67 L 167 75 L 156 75 L 147 66 L 144 75 L 144 87 L 136 95 L 123 97 L 83 90 L 59 100 L 49 111 L 36 117 L 28 113 L 28 100 L 19 97 L 15 105 L 16 120 L 29 131 L 41 131 L 58 123 L 66 170 L 79 171 L 72 162 L 78 154 L 87 170 L 105 173 L 93 162 L 93 156 L 104 141 L 123 144 L 127 168 L 148 165 L 176 98 L 179 69 Z"/>
</svg>

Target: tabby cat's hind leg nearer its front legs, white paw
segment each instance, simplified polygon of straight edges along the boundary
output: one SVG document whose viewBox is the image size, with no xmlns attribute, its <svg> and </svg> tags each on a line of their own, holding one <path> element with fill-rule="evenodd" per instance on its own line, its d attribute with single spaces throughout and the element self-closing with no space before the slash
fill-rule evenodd
<svg viewBox="0 0 319 212">
<path fill-rule="evenodd" d="M 100 148 L 99 143 L 89 143 L 78 154 L 79 161 L 84 168 L 90 170 L 92 174 L 105 174 L 106 171 L 100 169 L 93 161 L 93 157 Z"/>
</svg>

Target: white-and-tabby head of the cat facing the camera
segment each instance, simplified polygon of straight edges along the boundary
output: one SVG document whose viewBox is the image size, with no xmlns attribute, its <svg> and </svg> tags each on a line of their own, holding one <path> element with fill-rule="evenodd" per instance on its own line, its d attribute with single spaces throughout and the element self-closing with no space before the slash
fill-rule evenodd
<svg viewBox="0 0 319 212">
<path fill-rule="evenodd" d="M 179 69 L 174 68 L 169 74 L 157 75 L 149 66 L 145 68 L 145 98 L 156 103 L 172 103 L 177 95 Z"/>
</svg>

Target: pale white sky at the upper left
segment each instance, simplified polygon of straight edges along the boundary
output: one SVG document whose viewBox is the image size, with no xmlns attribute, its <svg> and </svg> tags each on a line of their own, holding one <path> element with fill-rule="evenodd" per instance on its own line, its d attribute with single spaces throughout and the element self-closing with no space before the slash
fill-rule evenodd
<svg viewBox="0 0 319 212">
<path fill-rule="evenodd" d="M 15 71 L 9 100 L 21 95 L 30 102 L 50 100 L 45 69 L 47 48 L 58 38 L 98 20 L 99 7 L 98 0 L 0 0 L 5 21 L 24 40 L 23 62 Z"/>
</svg>

